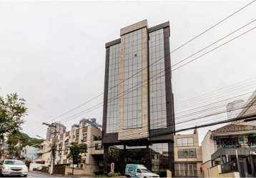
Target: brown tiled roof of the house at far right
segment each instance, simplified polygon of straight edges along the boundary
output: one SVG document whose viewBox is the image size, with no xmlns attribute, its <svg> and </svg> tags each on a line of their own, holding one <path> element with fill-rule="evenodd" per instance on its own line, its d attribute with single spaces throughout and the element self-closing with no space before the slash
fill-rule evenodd
<svg viewBox="0 0 256 178">
<path fill-rule="evenodd" d="M 250 131 L 250 130 L 256 130 L 256 126 L 230 124 L 230 125 L 225 125 L 223 127 L 220 127 L 217 130 L 213 130 L 212 133 L 240 132 L 240 131 Z"/>
</svg>

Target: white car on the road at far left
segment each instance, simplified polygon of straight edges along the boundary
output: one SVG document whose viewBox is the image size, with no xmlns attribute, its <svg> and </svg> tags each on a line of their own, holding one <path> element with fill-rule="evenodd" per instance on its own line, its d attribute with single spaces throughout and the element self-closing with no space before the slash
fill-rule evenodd
<svg viewBox="0 0 256 178">
<path fill-rule="evenodd" d="M 27 177 L 28 168 L 26 164 L 20 160 L 4 159 L 4 161 L 1 162 L 0 174 L 3 176 L 23 175 Z"/>
</svg>

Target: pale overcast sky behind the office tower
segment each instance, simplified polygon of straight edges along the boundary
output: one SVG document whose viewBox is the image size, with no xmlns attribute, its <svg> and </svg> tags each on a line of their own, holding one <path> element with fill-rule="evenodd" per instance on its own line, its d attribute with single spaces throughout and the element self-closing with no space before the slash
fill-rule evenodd
<svg viewBox="0 0 256 178">
<path fill-rule="evenodd" d="M 149 27 L 169 21 L 172 51 L 249 2 L 0 1 L 0 95 L 16 92 L 24 98 L 29 111 L 23 131 L 31 137 L 45 137 L 46 127 L 41 122 L 49 122 L 103 93 L 104 44 L 119 38 L 120 28 L 143 19 Z M 256 3 L 175 51 L 172 65 L 256 19 L 255 10 Z M 240 33 L 254 26 L 255 22 Z M 256 29 L 172 72 L 175 117 L 180 120 L 176 121 L 180 122 L 177 128 L 218 118 L 182 123 L 181 118 L 187 118 L 184 113 L 200 103 L 207 105 L 255 90 L 255 36 Z M 218 97 L 213 94 L 249 79 L 250 85 L 243 84 L 244 88 L 224 90 Z M 246 100 L 249 95 L 241 98 Z M 83 117 L 95 117 L 102 123 L 102 107 L 71 117 L 102 100 L 100 96 L 54 121 L 68 129 Z M 223 109 L 226 103 L 222 104 Z M 220 125 L 200 129 L 200 140 L 207 130 L 217 127 Z"/>
</svg>

